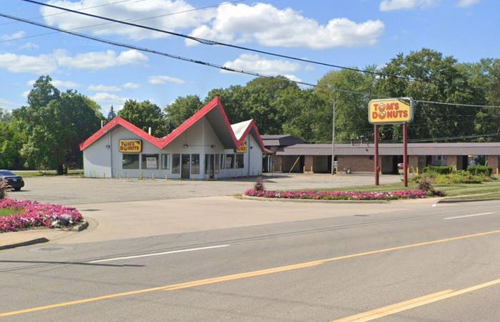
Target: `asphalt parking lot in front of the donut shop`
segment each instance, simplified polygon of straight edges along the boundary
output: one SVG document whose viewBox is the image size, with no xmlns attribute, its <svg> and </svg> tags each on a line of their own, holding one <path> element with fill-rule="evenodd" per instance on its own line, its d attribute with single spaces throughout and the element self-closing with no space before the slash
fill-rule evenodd
<svg viewBox="0 0 500 322">
<path fill-rule="evenodd" d="M 231 180 L 117 180 L 81 177 L 26 177 L 13 199 L 34 199 L 54 204 L 95 204 L 161 199 L 185 199 L 238 194 L 254 186 L 256 177 Z M 399 182 L 399 175 L 384 175 L 381 183 Z M 371 175 L 275 174 L 264 176 L 266 189 L 314 189 L 372 185 Z"/>
</svg>

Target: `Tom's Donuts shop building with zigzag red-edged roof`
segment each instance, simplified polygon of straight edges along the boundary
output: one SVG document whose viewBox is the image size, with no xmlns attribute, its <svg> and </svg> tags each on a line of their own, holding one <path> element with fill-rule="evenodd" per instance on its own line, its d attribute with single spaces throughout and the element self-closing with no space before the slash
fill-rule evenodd
<svg viewBox="0 0 500 322">
<path fill-rule="evenodd" d="M 261 175 L 271 153 L 254 120 L 230 124 L 218 97 L 165 137 L 116 117 L 80 150 L 85 177 L 197 180 Z"/>
</svg>

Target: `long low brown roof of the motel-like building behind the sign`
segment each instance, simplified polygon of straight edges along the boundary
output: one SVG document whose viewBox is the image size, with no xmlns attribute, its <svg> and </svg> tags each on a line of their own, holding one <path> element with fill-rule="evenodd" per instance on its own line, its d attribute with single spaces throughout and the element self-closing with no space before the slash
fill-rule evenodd
<svg viewBox="0 0 500 322">
<path fill-rule="evenodd" d="M 374 155 L 373 143 L 336 144 L 336 155 Z M 402 155 L 402 143 L 379 144 L 380 155 Z M 500 142 L 491 143 L 409 143 L 409 155 L 500 155 Z M 331 144 L 296 144 L 282 147 L 276 155 L 331 155 Z"/>
</svg>

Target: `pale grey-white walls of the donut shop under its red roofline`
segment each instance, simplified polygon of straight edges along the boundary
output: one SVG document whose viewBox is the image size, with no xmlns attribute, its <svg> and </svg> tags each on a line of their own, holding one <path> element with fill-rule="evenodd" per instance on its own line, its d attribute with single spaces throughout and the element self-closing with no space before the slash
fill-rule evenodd
<svg viewBox="0 0 500 322">
<path fill-rule="evenodd" d="M 221 141 L 211 128 L 210 123 L 204 118 L 179 137 L 171 142 L 165 149 L 161 150 L 146 140 L 142 140 L 141 154 L 159 155 L 159 169 L 141 169 L 141 155 L 139 155 L 139 169 L 122 169 L 122 153 L 119 152 L 119 140 L 140 139 L 138 135 L 131 133 L 126 128 L 118 127 L 101 137 L 84 150 L 84 173 L 86 177 L 144 177 L 144 178 L 171 178 L 180 179 L 181 173 L 173 174 L 173 154 L 199 154 L 199 174 L 190 173 L 190 179 L 203 180 L 205 175 L 206 154 L 235 154 L 232 149 L 224 149 Z M 109 145 L 110 148 L 106 148 Z M 184 147 L 187 145 L 187 147 Z M 260 175 L 262 173 L 262 150 L 254 137 L 246 137 L 248 147 L 244 154 L 244 167 L 242 169 L 221 169 L 216 177 L 246 177 L 249 175 Z M 169 169 L 161 169 L 161 154 L 169 154 Z M 220 161 L 219 161 L 220 162 Z M 112 169 L 112 170 L 111 170 Z M 190 170 L 191 172 L 191 170 Z"/>
</svg>

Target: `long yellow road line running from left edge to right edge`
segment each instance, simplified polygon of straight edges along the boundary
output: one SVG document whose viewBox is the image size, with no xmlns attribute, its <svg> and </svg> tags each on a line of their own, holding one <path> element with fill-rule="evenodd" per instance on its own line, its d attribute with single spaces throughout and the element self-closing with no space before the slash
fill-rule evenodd
<svg viewBox="0 0 500 322">
<path fill-rule="evenodd" d="M 380 254 L 380 253 L 385 253 L 388 251 L 396 251 L 399 249 L 409 249 L 413 247 L 419 247 L 419 246 L 426 246 L 426 245 L 431 245 L 431 244 L 439 244 L 439 243 L 444 243 L 446 241 L 454 241 L 454 240 L 459 240 L 459 239 L 468 239 L 468 238 L 473 238 L 473 237 L 481 237 L 481 236 L 486 236 L 490 234 L 499 234 L 500 229 L 498 230 L 492 230 L 490 232 L 481 232 L 478 234 L 469 234 L 469 235 L 464 235 L 464 236 L 459 236 L 459 237 L 451 237 L 451 238 L 446 238 L 446 239 L 438 239 L 438 240 L 433 240 L 433 241 L 424 241 L 421 243 L 417 244 L 408 244 L 408 245 L 403 245 L 403 246 L 396 246 L 396 247 L 391 247 L 391 248 L 386 248 L 386 249 L 377 249 L 374 251 L 364 251 L 362 253 L 356 253 L 356 254 L 350 254 L 350 255 L 345 255 L 345 256 L 337 256 L 337 257 L 331 257 L 328 259 L 320 259 L 317 261 L 308 261 L 305 263 L 301 264 L 294 264 L 294 265 L 286 265 L 286 266 L 279 266 L 279 267 L 274 267 L 271 269 L 261 269 L 259 271 L 249 271 L 241 274 L 233 274 L 233 275 L 226 275 L 226 276 L 219 276 L 219 277 L 213 277 L 211 279 L 201 279 L 198 281 L 189 281 L 186 283 L 180 283 L 180 284 L 172 284 L 172 285 L 167 285 L 167 286 L 159 286 L 159 287 L 153 287 L 151 289 L 141 289 L 137 291 L 128 291 L 124 293 L 116 293 L 116 294 L 109 294 L 105 296 L 97 296 L 97 297 L 92 297 L 92 298 L 84 298 L 81 300 L 76 300 L 76 301 L 69 301 L 69 302 L 64 302 L 64 303 L 56 303 L 56 304 L 51 304 L 47 306 L 38 306 L 35 308 L 26 308 L 24 310 L 19 310 L 19 311 L 10 311 L 10 312 L 5 312 L 5 313 L 0 313 L 0 318 L 4 316 L 14 316 L 18 314 L 23 314 L 23 313 L 30 313 L 30 312 L 36 312 L 36 311 L 43 311 L 43 310 L 49 310 L 51 308 L 61 308 L 64 306 L 73 306 L 76 304 L 82 304 L 82 303 L 89 303 L 89 302 L 95 302 L 95 301 L 102 301 L 106 300 L 109 298 L 118 298 L 122 296 L 131 296 L 131 295 L 136 295 L 136 294 L 144 294 L 144 293 L 149 293 L 149 292 L 154 292 L 154 291 L 174 291 L 174 290 L 179 290 L 179 289 L 188 289 L 191 287 L 195 286 L 202 286 L 202 285 L 209 285 L 209 284 L 214 284 L 214 283 L 220 283 L 224 281 L 234 281 L 236 279 L 247 279 L 249 277 L 254 277 L 254 276 L 263 276 L 263 275 L 268 275 L 268 274 L 275 274 L 275 273 L 280 273 L 283 271 L 291 271 L 295 269 L 305 269 L 307 267 L 311 266 L 317 266 L 321 264 L 325 264 L 329 261 L 340 261 L 342 259 L 351 259 L 355 257 L 361 257 L 361 256 L 367 256 L 367 255 L 372 255 L 372 254 Z"/>
</svg>

